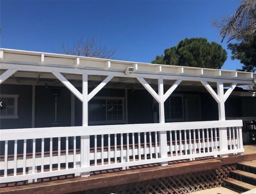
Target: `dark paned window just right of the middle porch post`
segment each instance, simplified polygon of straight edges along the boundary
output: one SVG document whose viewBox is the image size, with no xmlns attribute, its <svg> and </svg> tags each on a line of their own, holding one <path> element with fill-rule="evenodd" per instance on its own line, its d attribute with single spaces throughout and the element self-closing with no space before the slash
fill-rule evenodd
<svg viewBox="0 0 256 194">
<path fill-rule="evenodd" d="M 185 121 L 183 95 L 173 94 L 166 102 L 167 121 Z"/>
</svg>

